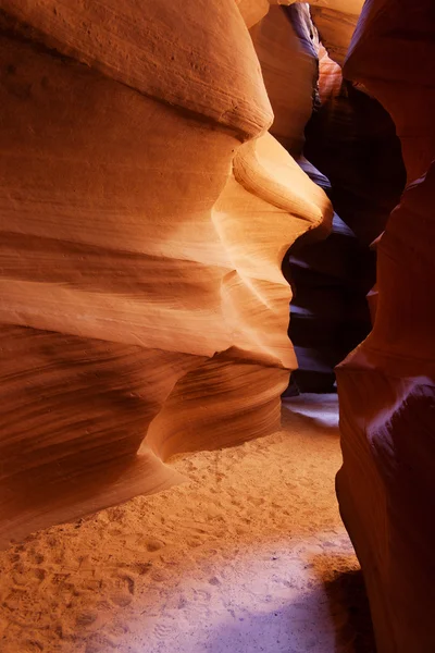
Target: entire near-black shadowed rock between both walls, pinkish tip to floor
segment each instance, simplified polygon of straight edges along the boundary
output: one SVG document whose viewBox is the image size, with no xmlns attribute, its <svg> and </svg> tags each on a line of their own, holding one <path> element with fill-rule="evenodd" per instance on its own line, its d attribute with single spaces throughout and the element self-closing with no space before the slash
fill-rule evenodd
<svg viewBox="0 0 435 653">
<path fill-rule="evenodd" d="M 334 367 L 371 330 L 370 244 L 384 230 L 406 176 L 388 113 L 343 79 L 322 45 L 319 56 L 319 102 L 306 128 L 304 153 L 326 175 L 336 214 L 326 241 L 290 250 L 297 292 L 289 335 L 299 362 L 291 375 L 297 387 L 333 392 Z"/>
</svg>

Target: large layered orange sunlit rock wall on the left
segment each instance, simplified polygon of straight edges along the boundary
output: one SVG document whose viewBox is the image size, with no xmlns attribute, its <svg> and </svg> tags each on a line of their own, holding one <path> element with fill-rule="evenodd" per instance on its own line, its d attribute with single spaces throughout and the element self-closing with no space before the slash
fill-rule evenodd
<svg viewBox="0 0 435 653">
<path fill-rule="evenodd" d="M 278 427 L 281 262 L 332 208 L 266 133 L 234 0 L 0 9 L 5 541 Z"/>
</svg>

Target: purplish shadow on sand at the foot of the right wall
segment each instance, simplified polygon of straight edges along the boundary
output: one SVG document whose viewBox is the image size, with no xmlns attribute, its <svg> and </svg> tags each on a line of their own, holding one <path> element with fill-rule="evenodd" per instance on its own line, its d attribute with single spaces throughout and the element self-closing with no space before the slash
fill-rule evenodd
<svg viewBox="0 0 435 653">
<path fill-rule="evenodd" d="M 256 614 L 254 606 L 251 614 L 228 609 L 228 620 L 210 631 L 204 650 L 376 653 L 361 571 L 337 572 L 333 580 L 323 582 L 323 590 L 312 588 L 262 614 Z"/>
</svg>

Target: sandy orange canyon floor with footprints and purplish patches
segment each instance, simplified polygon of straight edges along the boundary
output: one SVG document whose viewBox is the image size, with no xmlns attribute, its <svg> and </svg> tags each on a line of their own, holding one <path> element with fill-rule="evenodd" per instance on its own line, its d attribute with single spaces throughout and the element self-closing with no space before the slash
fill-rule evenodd
<svg viewBox="0 0 435 653">
<path fill-rule="evenodd" d="M 188 483 L 2 552 L 1 653 L 373 653 L 337 421 L 287 399 L 282 431 L 174 458 Z"/>
</svg>

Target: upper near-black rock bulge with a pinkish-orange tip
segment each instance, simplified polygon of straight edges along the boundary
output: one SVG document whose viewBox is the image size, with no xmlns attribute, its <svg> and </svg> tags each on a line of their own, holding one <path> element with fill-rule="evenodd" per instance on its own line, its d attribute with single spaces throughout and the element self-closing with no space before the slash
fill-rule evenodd
<svg viewBox="0 0 435 653">
<path fill-rule="evenodd" d="M 400 141 L 387 111 L 343 78 L 323 46 L 319 71 L 320 102 L 307 127 L 306 153 L 331 181 L 334 209 L 366 255 L 405 186 Z"/>
</svg>

